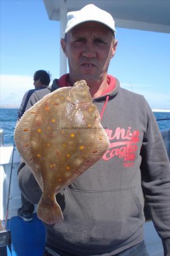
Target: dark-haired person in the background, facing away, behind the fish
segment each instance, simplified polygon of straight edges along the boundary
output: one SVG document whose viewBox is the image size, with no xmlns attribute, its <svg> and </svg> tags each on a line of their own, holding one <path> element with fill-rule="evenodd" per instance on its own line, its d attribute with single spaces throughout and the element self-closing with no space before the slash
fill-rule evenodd
<svg viewBox="0 0 170 256">
<path fill-rule="evenodd" d="M 32 93 L 37 90 L 46 88 L 47 86 L 49 86 L 49 83 L 50 83 L 50 75 L 48 72 L 44 70 L 38 70 L 35 72 L 35 74 L 33 75 L 33 85 L 35 86 L 35 89 L 28 90 L 24 94 L 22 104 L 20 105 L 20 108 L 18 110 L 17 121 L 19 121 L 19 119 L 24 114 L 28 104 L 28 100 L 31 97 Z M 21 162 L 18 168 L 18 173 L 20 169 L 23 168 L 24 166 L 25 166 L 25 163 Z M 18 216 L 23 218 L 24 221 L 32 221 L 33 219 L 32 213 L 35 208 L 34 205 L 30 203 L 27 199 L 25 199 L 22 192 L 21 192 L 21 200 L 22 200 L 22 207 L 18 209 Z"/>
</svg>

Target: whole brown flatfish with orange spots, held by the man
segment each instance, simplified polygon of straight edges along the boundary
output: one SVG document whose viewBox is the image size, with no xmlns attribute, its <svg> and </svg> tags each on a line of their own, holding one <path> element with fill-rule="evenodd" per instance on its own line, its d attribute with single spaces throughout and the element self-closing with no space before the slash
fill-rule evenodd
<svg viewBox="0 0 170 256">
<path fill-rule="evenodd" d="M 64 221 L 56 194 L 109 148 L 85 80 L 54 90 L 36 102 L 16 124 L 14 140 L 41 188 L 37 217 L 46 224 Z"/>
</svg>

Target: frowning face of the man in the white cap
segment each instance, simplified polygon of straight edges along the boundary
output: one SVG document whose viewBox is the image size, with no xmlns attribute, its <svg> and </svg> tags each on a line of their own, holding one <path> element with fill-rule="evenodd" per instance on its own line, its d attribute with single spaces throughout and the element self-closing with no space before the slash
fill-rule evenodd
<svg viewBox="0 0 170 256">
<path fill-rule="evenodd" d="M 70 81 L 86 80 L 89 86 L 107 79 L 107 71 L 117 42 L 112 31 L 99 22 L 82 23 L 61 40 L 68 58 Z"/>
</svg>

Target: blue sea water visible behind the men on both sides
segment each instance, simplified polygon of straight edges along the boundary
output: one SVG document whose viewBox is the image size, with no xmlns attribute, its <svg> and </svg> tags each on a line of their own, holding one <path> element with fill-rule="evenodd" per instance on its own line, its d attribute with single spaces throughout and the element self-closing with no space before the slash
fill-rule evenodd
<svg viewBox="0 0 170 256">
<path fill-rule="evenodd" d="M 170 112 L 157 112 L 154 115 L 158 122 L 159 129 L 170 127 Z M 163 111 L 163 110 L 162 110 Z M 14 144 L 14 129 L 18 117 L 18 109 L 0 108 L 0 129 L 3 130 L 3 145 L 11 146 Z"/>
</svg>

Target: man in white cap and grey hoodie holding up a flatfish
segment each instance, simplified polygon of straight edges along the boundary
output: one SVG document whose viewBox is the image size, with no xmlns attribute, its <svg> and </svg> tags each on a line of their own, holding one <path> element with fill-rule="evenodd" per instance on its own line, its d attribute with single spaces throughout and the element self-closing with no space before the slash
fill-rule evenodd
<svg viewBox="0 0 170 256">
<path fill-rule="evenodd" d="M 147 256 L 143 195 L 169 256 L 169 160 L 145 98 L 120 88 L 108 75 L 117 47 L 114 20 L 94 5 L 68 13 L 67 19 L 61 46 L 69 74 L 54 80 L 52 90 L 86 80 L 111 144 L 102 159 L 58 193 L 65 221 L 45 224 L 44 256 Z M 28 108 L 46 93 L 33 93 Z M 33 185 L 24 180 L 25 173 Z M 20 171 L 19 185 L 27 199 L 34 195 L 39 201 L 41 191 L 28 169 Z"/>
</svg>

